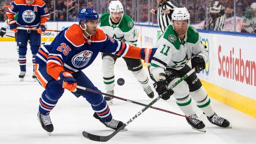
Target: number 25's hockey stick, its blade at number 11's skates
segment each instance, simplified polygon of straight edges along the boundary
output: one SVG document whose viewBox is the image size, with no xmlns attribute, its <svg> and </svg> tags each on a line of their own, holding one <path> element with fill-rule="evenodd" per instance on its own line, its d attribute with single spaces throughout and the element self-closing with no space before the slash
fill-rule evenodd
<svg viewBox="0 0 256 144">
<path fill-rule="evenodd" d="M 90 91 L 90 92 L 97 93 L 97 94 L 106 95 L 106 96 L 109 96 L 109 97 L 112 97 L 112 98 L 116 98 L 116 99 L 120 99 L 120 100 L 123 100 L 123 101 L 130 102 L 130 103 L 134 103 L 134 104 L 138 104 L 138 105 L 142 105 L 142 106 L 147 106 L 146 104 L 143 104 L 143 103 L 139 103 L 139 102 L 136 102 L 136 101 L 132 101 L 132 100 L 128 100 L 128 99 L 125 99 L 125 98 L 117 97 L 117 96 L 114 96 L 114 95 L 106 94 L 106 93 L 99 92 L 99 91 L 96 91 L 96 90 L 92 90 L 92 89 L 89 89 L 89 88 L 85 88 L 85 87 L 82 87 L 82 86 L 76 86 L 76 87 L 79 88 L 79 89 L 82 89 L 82 90 Z M 168 113 L 175 114 L 175 115 L 182 116 L 182 117 L 189 118 L 189 119 L 199 120 L 199 121 L 202 121 L 202 120 L 206 119 L 206 115 L 205 114 L 202 114 L 200 117 L 195 119 L 195 118 L 191 118 L 191 117 L 188 117 L 188 116 L 185 116 L 185 115 L 181 115 L 181 114 L 178 114 L 178 113 L 175 113 L 175 112 L 171 112 L 171 111 L 164 110 L 164 109 L 157 108 L 157 107 L 153 107 L 153 106 L 150 106 L 150 108 L 156 109 L 156 110 L 160 110 L 160 111 L 164 111 L 164 112 L 168 112 Z"/>
</svg>

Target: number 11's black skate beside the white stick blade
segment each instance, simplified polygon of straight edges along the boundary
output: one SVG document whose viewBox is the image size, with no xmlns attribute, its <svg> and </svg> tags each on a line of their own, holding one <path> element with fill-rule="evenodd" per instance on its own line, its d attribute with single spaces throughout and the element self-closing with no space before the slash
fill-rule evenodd
<svg viewBox="0 0 256 144">
<path fill-rule="evenodd" d="M 193 115 L 191 115 L 189 117 L 191 117 L 191 118 L 198 118 L 196 113 L 194 113 Z M 201 132 L 206 132 L 206 130 L 204 129 L 205 124 L 202 121 L 194 120 L 194 119 L 189 119 L 189 118 L 186 118 L 186 120 L 187 120 L 188 124 L 190 124 L 191 127 L 194 130 L 198 130 L 198 131 L 201 131 Z"/>
</svg>

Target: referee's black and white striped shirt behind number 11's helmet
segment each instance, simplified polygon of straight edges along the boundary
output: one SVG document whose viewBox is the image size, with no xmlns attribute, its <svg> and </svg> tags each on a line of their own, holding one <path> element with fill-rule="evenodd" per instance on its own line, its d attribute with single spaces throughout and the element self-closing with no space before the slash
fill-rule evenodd
<svg viewBox="0 0 256 144">
<path fill-rule="evenodd" d="M 169 14 L 163 13 L 163 9 L 165 8 L 170 10 Z M 158 25 L 162 32 L 168 25 L 171 24 L 171 16 L 175 8 L 176 6 L 174 6 L 170 1 L 165 1 L 163 4 L 159 5 L 157 11 L 155 11 L 155 13 L 157 14 Z"/>
</svg>

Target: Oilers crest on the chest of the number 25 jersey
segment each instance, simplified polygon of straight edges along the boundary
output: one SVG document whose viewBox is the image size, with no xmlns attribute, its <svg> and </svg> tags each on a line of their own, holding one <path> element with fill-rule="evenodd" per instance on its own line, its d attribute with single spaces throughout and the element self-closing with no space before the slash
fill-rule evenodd
<svg viewBox="0 0 256 144">
<path fill-rule="evenodd" d="M 90 61 L 91 57 L 91 51 L 82 51 L 72 58 L 72 64 L 77 68 L 83 67 Z"/>
</svg>

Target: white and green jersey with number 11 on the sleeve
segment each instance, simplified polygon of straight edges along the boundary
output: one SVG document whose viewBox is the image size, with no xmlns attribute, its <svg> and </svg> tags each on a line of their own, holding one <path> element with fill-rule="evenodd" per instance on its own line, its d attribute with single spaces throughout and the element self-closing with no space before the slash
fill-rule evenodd
<svg viewBox="0 0 256 144">
<path fill-rule="evenodd" d="M 173 26 L 169 25 L 160 36 L 153 48 L 157 48 L 150 66 L 153 76 L 165 73 L 166 68 L 182 69 L 192 54 L 201 55 L 208 61 L 208 51 L 201 43 L 198 31 L 189 26 L 184 40 L 180 40 Z"/>
</svg>

